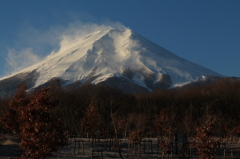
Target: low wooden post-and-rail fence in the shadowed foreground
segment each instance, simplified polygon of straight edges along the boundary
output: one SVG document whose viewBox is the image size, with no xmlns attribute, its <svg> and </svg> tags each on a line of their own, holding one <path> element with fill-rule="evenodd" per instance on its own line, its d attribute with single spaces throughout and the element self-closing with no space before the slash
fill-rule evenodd
<svg viewBox="0 0 240 159">
<path fill-rule="evenodd" d="M 189 142 L 169 141 L 169 150 L 163 153 L 158 138 L 142 139 L 140 142 L 119 141 L 116 147 L 114 139 L 69 138 L 69 148 L 74 155 L 91 156 L 91 158 L 114 158 L 121 154 L 123 158 L 159 158 L 159 159 L 191 159 L 198 158 L 197 149 Z M 119 154 L 120 153 L 120 154 Z M 216 159 L 240 159 L 240 144 L 219 143 L 213 152 Z"/>
</svg>

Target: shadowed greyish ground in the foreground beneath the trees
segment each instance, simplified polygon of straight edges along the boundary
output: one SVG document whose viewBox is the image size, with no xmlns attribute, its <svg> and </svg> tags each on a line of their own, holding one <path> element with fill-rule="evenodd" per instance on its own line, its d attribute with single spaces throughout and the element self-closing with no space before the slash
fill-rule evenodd
<svg viewBox="0 0 240 159">
<path fill-rule="evenodd" d="M 145 141 L 145 142 L 143 142 Z M 162 159 L 161 150 L 158 147 L 157 138 L 143 139 L 139 145 L 132 145 L 131 147 L 126 139 L 121 139 L 121 152 L 124 159 Z M 151 141 L 151 142 L 150 142 Z M 219 147 L 218 155 L 215 159 L 239 159 L 240 158 L 240 143 L 225 143 L 225 146 Z M 129 147 L 130 146 L 130 147 Z M 183 156 L 183 144 L 178 144 L 178 154 L 176 149 L 172 148 L 171 154 L 166 154 L 165 159 L 197 159 L 196 150 L 188 155 Z M 139 151 L 140 150 L 140 151 Z M 226 153 L 225 153 L 226 152 Z M 0 144 L 0 159 L 13 159 L 21 157 L 23 152 L 16 143 L 9 145 Z M 226 155 L 224 155 L 226 154 Z M 54 152 L 52 156 L 47 159 L 91 159 L 91 158 L 120 158 L 118 150 L 113 149 L 113 140 L 99 139 L 92 142 L 87 138 L 70 138 L 68 145 L 60 148 Z"/>
</svg>

